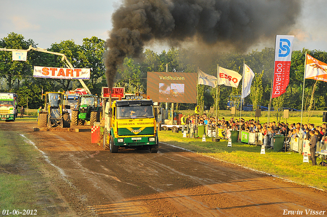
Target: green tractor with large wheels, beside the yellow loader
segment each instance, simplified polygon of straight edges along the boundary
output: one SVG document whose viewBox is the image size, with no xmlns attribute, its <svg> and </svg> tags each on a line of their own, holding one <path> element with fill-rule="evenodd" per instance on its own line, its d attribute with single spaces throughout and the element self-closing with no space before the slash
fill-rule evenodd
<svg viewBox="0 0 327 217">
<path fill-rule="evenodd" d="M 93 126 L 95 122 L 100 122 L 100 108 L 96 95 L 81 95 L 77 110 L 72 111 L 72 125 L 84 125 L 85 121 L 89 121 Z"/>
</svg>

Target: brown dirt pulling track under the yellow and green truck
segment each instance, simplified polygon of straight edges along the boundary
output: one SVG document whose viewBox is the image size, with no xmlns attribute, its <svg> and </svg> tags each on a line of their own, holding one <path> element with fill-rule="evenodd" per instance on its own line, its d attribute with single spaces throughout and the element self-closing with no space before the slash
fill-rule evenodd
<svg viewBox="0 0 327 217">
<path fill-rule="evenodd" d="M 32 123 L 1 122 L 0 130 L 9 126 L 49 157 L 53 187 L 72 215 L 282 216 L 284 210 L 299 210 L 311 216 L 306 209 L 327 210 L 325 192 L 166 144 L 160 143 L 156 154 L 110 154 L 90 143 L 88 129 L 34 132 Z"/>
</svg>

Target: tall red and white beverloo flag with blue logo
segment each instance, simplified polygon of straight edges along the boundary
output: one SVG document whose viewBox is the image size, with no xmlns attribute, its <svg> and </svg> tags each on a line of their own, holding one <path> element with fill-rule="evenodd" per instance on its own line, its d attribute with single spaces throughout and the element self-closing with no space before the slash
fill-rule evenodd
<svg viewBox="0 0 327 217">
<path fill-rule="evenodd" d="M 290 81 L 290 67 L 294 35 L 277 35 L 275 47 L 274 80 L 271 98 L 285 93 Z"/>
</svg>

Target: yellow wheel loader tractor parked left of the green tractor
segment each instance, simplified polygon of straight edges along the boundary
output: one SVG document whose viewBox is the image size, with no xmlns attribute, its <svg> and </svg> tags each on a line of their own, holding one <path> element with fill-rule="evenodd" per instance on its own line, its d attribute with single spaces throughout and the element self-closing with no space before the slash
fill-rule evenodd
<svg viewBox="0 0 327 217">
<path fill-rule="evenodd" d="M 64 92 L 45 92 L 44 109 L 39 113 L 38 125 L 41 128 L 69 128 L 71 116 L 65 110 Z"/>
</svg>

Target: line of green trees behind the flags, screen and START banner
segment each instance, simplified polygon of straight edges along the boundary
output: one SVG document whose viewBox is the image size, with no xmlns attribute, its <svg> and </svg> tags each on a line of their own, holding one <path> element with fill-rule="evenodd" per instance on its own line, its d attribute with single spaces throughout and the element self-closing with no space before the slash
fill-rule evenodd
<svg viewBox="0 0 327 217">
<path fill-rule="evenodd" d="M 30 45 L 37 46 L 32 39 L 26 40 L 24 36 L 10 33 L 0 39 L 0 47 L 7 49 L 26 50 Z M 44 48 L 44 47 L 43 47 Z M 101 94 L 101 87 L 107 86 L 105 79 L 105 66 L 103 55 L 105 41 L 95 36 L 84 38 L 82 45 L 75 44 L 74 40 L 53 43 L 48 51 L 63 53 L 69 62 L 76 68 L 90 68 L 90 80 L 85 84 L 93 94 Z M 288 107 L 301 109 L 302 84 L 304 74 L 305 53 L 314 58 L 327 62 L 327 53 L 324 51 L 293 51 L 290 82 L 286 93 L 273 100 L 272 106 L 277 108 Z M 41 92 L 67 91 L 81 87 L 75 80 L 33 78 L 33 66 L 65 67 L 61 57 L 52 54 L 29 51 L 27 61 L 12 61 L 11 52 L 0 51 L 0 91 L 16 92 L 19 96 L 19 106 L 26 106 L 27 99 L 29 108 L 38 108 L 43 104 Z M 168 71 L 181 73 L 196 73 L 198 67 L 206 74 L 217 76 L 217 64 L 219 66 L 237 71 L 242 75 L 243 62 L 254 72 L 251 94 L 245 98 L 245 104 L 253 107 L 268 106 L 270 101 L 271 81 L 274 65 L 274 49 L 266 47 L 262 51 L 252 50 L 244 54 L 236 51 L 231 52 L 197 52 L 191 49 L 177 49 L 172 47 L 169 51 L 160 54 L 146 49 L 137 58 L 126 57 L 124 63 L 118 68 L 115 78 L 115 86 L 125 87 L 126 92 L 144 92 L 147 90 L 148 71 Z M 305 105 L 306 110 L 326 110 L 327 95 L 324 89 L 327 83 L 315 80 L 306 80 Z M 241 95 L 241 83 L 238 88 L 220 85 L 218 91 L 218 107 L 225 110 L 228 100 L 235 100 L 235 96 Z M 216 88 L 199 85 L 198 102 L 203 108 L 206 106 L 216 107 Z M 179 110 L 194 109 L 194 104 L 177 104 Z"/>
</svg>

